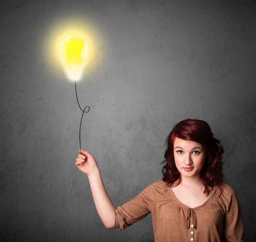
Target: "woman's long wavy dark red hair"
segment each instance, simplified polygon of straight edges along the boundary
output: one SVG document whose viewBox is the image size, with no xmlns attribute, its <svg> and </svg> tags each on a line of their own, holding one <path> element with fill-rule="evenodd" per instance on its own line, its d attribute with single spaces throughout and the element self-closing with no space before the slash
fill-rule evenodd
<svg viewBox="0 0 256 242">
<path fill-rule="evenodd" d="M 160 163 L 167 162 L 162 172 L 163 181 L 166 181 L 168 185 L 174 184 L 175 182 L 178 185 L 181 182 L 181 174 L 177 170 L 174 158 L 173 145 L 176 137 L 183 140 L 195 141 L 204 146 L 206 158 L 200 172 L 200 179 L 205 186 L 204 193 L 207 193 L 208 196 L 213 187 L 220 186 L 223 181 L 222 154 L 224 150 L 222 145 L 218 145 L 221 142 L 213 138 L 213 133 L 206 121 L 185 119 L 175 124 L 172 132 L 165 141 L 165 144 L 167 143 L 167 149 L 164 154 L 165 160 Z"/>
</svg>

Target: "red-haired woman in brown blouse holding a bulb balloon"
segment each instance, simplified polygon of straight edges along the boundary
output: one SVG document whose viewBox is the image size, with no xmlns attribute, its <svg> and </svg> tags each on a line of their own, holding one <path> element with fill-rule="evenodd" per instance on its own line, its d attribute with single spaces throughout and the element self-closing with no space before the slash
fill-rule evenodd
<svg viewBox="0 0 256 242">
<path fill-rule="evenodd" d="M 223 182 L 224 150 L 207 122 L 180 121 L 166 142 L 163 180 L 119 207 L 105 190 L 96 160 L 79 150 L 76 166 L 88 176 L 105 227 L 124 230 L 151 213 L 155 242 L 243 242 L 239 200 Z"/>
</svg>

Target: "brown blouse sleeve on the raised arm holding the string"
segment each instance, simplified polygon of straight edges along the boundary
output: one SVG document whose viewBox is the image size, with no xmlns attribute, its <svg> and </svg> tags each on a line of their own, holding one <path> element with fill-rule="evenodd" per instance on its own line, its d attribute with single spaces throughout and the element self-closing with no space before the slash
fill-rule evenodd
<svg viewBox="0 0 256 242">
<path fill-rule="evenodd" d="M 146 187 L 141 193 L 131 199 L 131 201 L 116 207 L 116 219 L 113 229 L 118 228 L 119 230 L 124 230 L 151 213 L 151 207 L 154 201 L 152 188 L 153 184 Z"/>
</svg>

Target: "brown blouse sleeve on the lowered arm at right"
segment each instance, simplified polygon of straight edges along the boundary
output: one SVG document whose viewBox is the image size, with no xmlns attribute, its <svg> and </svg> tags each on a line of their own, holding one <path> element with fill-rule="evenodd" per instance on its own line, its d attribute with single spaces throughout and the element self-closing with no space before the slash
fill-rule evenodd
<svg viewBox="0 0 256 242">
<path fill-rule="evenodd" d="M 224 236 L 226 242 L 244 242 L 244 228 L 241 216 L 241 208 L 238 197 L 232 189 L 230 194 L 230 203 L 227 206 Z"/>
</svg>

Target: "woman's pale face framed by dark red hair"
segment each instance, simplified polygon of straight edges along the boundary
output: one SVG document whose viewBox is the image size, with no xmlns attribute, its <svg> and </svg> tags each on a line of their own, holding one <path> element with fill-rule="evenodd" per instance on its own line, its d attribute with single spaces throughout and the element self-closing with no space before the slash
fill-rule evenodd
<svg viewBox="0 0 256 242">
<path fill-rule="evenodd" d="M 204 146 L 195 141 L 176 137 L 173 148 L 175 164 L 181 176 L 199 177 L 206 156 Z M 186 167 L 192 169 L 186 169 Z"/>
</svg>

